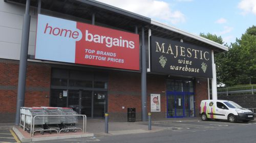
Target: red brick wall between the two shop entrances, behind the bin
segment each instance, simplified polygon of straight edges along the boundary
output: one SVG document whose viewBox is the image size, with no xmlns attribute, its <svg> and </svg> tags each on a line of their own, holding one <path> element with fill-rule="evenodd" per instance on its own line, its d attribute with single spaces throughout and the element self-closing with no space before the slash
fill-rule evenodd
<svg viewBox="0 0 256 143">
<path fill-rule="evenodd" d="M 111 72 L 109 74 L 108 104 L 110 119 L 127 119 L 127 108 L 136 108 L 136 120 L 141 120 L 141 77 L 140 73 Z M 147 76 L 147 111 L 150 112 L 150 94 L 161 94 L 161 112 L 153 112 L 152 118 L 165 118 L 165 78 Z M 122 109 L 122 106 L 125 108 Z"/>
</svg>

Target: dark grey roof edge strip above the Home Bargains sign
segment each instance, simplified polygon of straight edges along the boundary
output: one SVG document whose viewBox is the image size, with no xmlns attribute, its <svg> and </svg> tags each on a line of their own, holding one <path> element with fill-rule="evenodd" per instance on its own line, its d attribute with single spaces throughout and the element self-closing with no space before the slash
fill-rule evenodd
<svg viewBox="0 0 256 143">
<path fill-rule="evenodd" d="M 120 8 L 117 8 L 117 7 L 114 7 L 114 6 L 105 4 L 105 3 L 101 3 L 98 1 L 94 1 L 94 0 L 76 0 L 76 1 L 85 3 L 85 4 L 89 4 L 92 6 L 96 6 L 96 7 L 102 8 L 102 9 L 110 10 L 110 11 L 113 11 L 113 12 L 116 12 L 116 13 L 119 13 L 122 15 L 126 15 L 129 17 L 144 21 L 146 23 L 151 23 L 151 18 L 149 18 L 149 17 L 145 17 L 145 16 L 142 16 L 142 15 L 130 12 L 130 11 L 126 11 L 126 10 L 123 10 L 123 9 L 120 9 Z"/>
</svg>

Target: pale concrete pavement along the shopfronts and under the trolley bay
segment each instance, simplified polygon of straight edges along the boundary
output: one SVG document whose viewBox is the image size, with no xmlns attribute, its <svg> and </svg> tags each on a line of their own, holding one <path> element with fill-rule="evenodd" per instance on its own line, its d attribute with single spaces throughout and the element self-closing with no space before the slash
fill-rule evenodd
<svg viewBox="0 0 256 143">
<path fill-rule="evenodd" d="M 152 124 L 161 122 L 161 121 L 198 122 L 198 121 L 201 121 L 201 119 L 199 117 L 161 119 L 161 120 L 153 120 Z M 250 123 L 255 123 L 255 122 L 256 122 L 256 120 L 250 121 Z M 134 134 L 134 133 L 158 132 L 161 130 L 168 129 L 168 127 L 163 127 L 163 126 L 152 126 L 152 130 L 149 131 L 147 122 L 110 121 L 109 122 L 109 133 L 105 133 L 104 132 L 105 131 L 104 124 L 105 124 L 104 119 L 88 119 L 87 120 L 87 129 L 86 129 L 88 135 L 90 134 L 90 136 L 112 136 L 112 135 Z M 14 125 L 13 123 L 0 123 L 0 129 L 12 129 L 13 125 Z M 81 122 L 79 122 L 78 126 L 79 125 L 81 125 Z M 16 128 L 19 128 L 19 127 L 16 127 Z M 28 133 L 25 132 L 25 134 L 28 134 Z M 34 138 L 37 138 L 37 139 L 35 139 L 33 141 L 61 139 L 64 136 L 69 136 L 69 138 L 72 138 L 72 136 L 75 137 L 75 134 L 72 135 L 72 133 L 71 134 L 63 133 L 62 135 L 56 134 L 55 136 L 49 135 L 49 137 L 46 137 L 46 136 L 48 136 L 47 134 L 48 133 L 45 133 L 44 135 L 37 134 L 34 136 Z M 27 136 L 29 136 L 29 134 Z M 39 136 L 44 136 L 44 137 L 40 138 Z M 30 140 L 23 139 L 23 141 L 30 141 Z"/>
</svg>

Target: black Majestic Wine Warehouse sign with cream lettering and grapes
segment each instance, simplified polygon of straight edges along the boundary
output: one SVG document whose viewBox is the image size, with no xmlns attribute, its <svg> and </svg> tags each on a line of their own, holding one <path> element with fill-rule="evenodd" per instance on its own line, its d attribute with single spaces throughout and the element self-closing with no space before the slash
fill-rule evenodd
<svg viewBox="0 0 256 143">
<path fill-rule="evenodd" d="M 211 78 L 211 50 L 151 36 L 151 71 Z"/>
</svg>

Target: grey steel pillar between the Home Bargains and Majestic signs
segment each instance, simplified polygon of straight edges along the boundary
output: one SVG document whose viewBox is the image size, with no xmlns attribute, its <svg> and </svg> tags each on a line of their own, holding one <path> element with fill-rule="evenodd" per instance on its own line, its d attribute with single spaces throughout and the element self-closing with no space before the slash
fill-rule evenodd
<svg viewBox="0 0 256 143">
<path fill-rule="evenodd" d="M 141 30 L 141 120 L 147 121 L 147 97 L 146 97 L 146 47 L 144 27 Z"/>
</svg>

